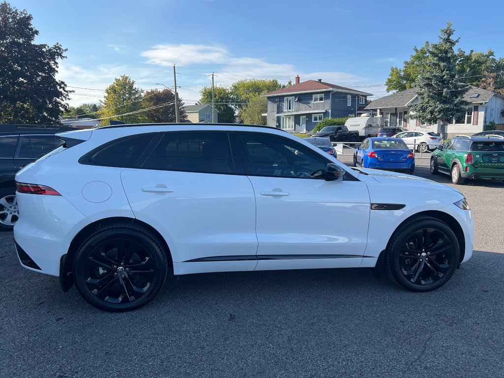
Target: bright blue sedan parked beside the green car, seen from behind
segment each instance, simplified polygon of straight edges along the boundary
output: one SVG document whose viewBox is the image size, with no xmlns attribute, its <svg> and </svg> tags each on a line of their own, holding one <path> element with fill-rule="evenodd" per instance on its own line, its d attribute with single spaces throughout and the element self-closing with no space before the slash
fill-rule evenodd
<svg viewBox="0 0 504 378">
<path fill-rule="evenodd" d="M 415 170 L 415 155 L 401 139 L 366 138 L 355 149 L 353 165 L 411 174 Z"/>
</svg>

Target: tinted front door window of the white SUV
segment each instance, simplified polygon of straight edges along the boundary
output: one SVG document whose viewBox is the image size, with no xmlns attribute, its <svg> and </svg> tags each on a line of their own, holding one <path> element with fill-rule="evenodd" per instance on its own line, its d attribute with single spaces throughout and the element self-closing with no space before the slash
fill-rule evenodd
<svg viewBox="0 0 504 378">
<path fill-rule="evenodd" d="M 242 134 L 251 166 L 247 174 L 260 176 L 323 178 L 326 160 L 297 143 L 263 134 Z"/>
</svg>

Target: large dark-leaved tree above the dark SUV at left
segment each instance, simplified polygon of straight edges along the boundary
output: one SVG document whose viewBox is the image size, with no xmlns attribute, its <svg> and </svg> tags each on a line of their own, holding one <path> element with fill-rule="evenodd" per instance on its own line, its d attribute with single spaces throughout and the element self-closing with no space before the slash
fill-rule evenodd
<svg viewBox="0 0 504 378">
<path fill-rule="evenodd" d="M 59 123 L 70 97 L 55 79 L 67 49 L 35 44 L 33 17 L 0 3 L 0 123 Z"/>
</svg>

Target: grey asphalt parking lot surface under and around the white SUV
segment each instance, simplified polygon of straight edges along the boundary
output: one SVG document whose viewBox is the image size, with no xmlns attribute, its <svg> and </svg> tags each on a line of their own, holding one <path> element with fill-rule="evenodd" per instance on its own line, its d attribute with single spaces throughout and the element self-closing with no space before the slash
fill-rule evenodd
<svg viewBox="0 0 504 378">
<path fill-rule="evenodd" d="M 0 233 L 0 376 L 504 377 L 504 183 L 457 187 L 475 252 L 429 293 L 367 269 L 200 274 L 108 313 L 22 268 Z"/>
</svg>

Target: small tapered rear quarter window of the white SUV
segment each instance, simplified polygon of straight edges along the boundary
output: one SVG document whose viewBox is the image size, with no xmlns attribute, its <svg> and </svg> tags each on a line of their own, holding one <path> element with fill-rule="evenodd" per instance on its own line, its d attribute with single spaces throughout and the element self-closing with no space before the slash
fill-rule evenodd
<svg viewBox="0 0 504 378">
<path fill-rule="evenodd" d="M 142 134 L 106 143 L 79 162 L 109 167 L 133 167 L 155 134 Z"/>
</svg>

